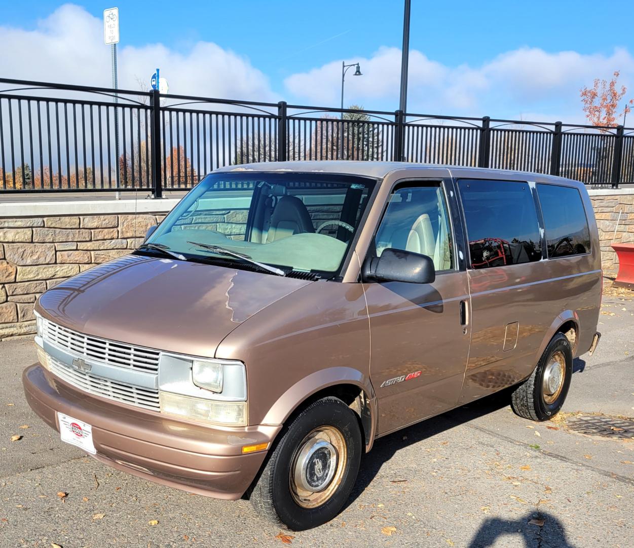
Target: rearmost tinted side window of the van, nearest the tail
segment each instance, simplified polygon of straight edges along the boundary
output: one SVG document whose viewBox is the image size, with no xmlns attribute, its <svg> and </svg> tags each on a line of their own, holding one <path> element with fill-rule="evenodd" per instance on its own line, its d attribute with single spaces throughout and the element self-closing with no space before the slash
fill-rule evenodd
<svg viewBox="0 0 634 548">
<path fill-rule="evenodd" d="M 548 258 L 590 253 L 590 230 L 581 194 L 573 187 L 537 185 Z"/>
</svg>

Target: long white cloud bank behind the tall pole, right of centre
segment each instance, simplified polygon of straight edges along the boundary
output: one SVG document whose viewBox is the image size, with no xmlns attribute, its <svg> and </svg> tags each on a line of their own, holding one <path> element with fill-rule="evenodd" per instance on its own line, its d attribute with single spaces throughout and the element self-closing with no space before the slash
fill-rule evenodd
<svg viewBox="0 0 634 548">
<path fill-rule="evenodd" d="M 393 110 L 398 105 L 401 51 L 380 48 L 370 58 L 352 58 L 363 76 L 346 75 L 345 104 Z M 619 84 L 634 92 L 634 58 L 622 48 L 611 55 L 575 51 L 549 53 L 521 48 L 478 67 L 450 67 L 410 51 L 408 110 L 428 114 L 519 117 L 541 112 L 547 119 L 583 120 L 579 89 L 595 78 L 609 79 L 621 70 Z M 333 61 L 285 79 L 287 90 L 320 105 L 337 105 L 341 61 Z M 631 93 L 634 97 L 634 93 Z M 628 98 L 630 95 L 628 95 Z"/>
</svg>

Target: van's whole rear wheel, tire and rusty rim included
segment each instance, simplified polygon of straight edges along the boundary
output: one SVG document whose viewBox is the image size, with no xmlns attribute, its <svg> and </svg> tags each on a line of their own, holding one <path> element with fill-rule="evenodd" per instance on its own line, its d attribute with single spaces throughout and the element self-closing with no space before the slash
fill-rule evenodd
<svg viewBox="0 0 634 548">
<path fill-rule="evenodd" d="M 571 377 L 573 350 L 563 333 L 550 340 L 536 368 L 511 396 L 511 407 L 520 417 L 548 420 L 562 408 Z"/>
</svg>

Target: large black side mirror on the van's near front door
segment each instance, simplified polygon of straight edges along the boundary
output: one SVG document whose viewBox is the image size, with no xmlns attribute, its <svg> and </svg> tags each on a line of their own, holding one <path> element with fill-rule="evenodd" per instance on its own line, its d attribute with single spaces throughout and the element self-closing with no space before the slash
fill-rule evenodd
<svg viewBox="0 0 634 548">
<path fill-rule="evenodd" d="M 366 261 L 363 277 L 375 281 L 432 283 L 436 280 L 436 267 L 427 255 L 387 248 L 380 257 Z"/>
</svg>

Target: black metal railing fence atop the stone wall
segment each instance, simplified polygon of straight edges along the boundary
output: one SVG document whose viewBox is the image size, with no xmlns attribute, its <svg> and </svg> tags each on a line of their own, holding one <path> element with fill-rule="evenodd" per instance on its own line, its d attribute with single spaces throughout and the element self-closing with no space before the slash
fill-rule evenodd
<svg viewBox="0 0 634 548">
<path fill-rule="evenodd" d="M 0 79 L 0 193 L 188 189 L 261 161 L 414 161 L 634 182 L 634 128 Z"/>
</svg>

